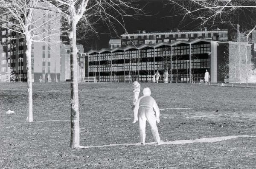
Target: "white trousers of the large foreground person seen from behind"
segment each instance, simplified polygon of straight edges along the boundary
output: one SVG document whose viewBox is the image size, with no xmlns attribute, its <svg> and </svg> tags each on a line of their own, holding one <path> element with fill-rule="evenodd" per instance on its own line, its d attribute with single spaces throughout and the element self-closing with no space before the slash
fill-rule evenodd
<svg viewBox="0 0 256 169">
<path fill-rule="evenodd" d="M 140 107 L 138 113 L 139 128 L 140 128 L 140 142 L 145 143 L 146 138 L 146 121 L 148 121 L 154 141 L 159 143 L 160 137 L 157 130 L 157 120 L 154 111 L 150 107 Z"/>
</svg>

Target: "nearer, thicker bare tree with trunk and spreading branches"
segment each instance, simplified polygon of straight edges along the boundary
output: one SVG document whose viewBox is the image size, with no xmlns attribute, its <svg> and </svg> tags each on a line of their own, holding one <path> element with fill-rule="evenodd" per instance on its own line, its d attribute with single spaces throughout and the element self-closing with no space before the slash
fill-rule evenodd
<svg viewBox="0 0 256 169">
<path fill-rule="evenodd" d="M 131 16 L 125 9 L 137 11 L 126 0 L 44 0 L 57 7 L 59 13 L 67 20 L 68 37 L 70 40 L 70 70 L 71 70 L 71 136 L 70 147 L 79 148 L 79 97 L 77 82 L 77 29 L 90 30 L 96 33 L 93 23 L 108 22 L 108 28 L 114 27 L 115 21 L 125 28 L 123 17 Z M 119 15 L 120 20 L 116 16 Z"/>
</svg>

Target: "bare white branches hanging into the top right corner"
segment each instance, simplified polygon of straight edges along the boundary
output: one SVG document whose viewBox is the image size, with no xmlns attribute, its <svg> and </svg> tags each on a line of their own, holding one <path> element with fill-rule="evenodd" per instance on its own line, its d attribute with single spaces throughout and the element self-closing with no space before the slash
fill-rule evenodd
<svg viewBox="0 0 256 169">
<path fill-rule="evenodd" d="M 174 5 L 184 18 L 190 17 L 201 21 L 201 24 L 232 23 L 232 14 L 247 10 L 253 14 L 256 10 L 255 0 L 168 0 Z M 251 28 L 247 31 L 247 37 L 256 28 L 256 23 L 251 20 Z"/>
</svg>

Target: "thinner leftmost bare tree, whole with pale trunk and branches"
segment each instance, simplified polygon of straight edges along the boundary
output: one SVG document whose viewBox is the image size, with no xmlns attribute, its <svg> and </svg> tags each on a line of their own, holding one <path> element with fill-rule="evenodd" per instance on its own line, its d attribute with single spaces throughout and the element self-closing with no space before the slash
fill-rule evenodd
<svg viewBox="0 0 256 169">
<path fill-rule="evenodd" d="M 28 84 L 28 116 L 27 121 L 33 121 L 32 111 L 32 71 L 31 71 L 31 49 L 32 42 L 44 42 L 52 35 L 56 34 L 56 17 L 53 8 L 43 3 L 41 0 L 0 0 L 0 24 L 1 29 L 8 32 L 15 32 L 16 36 L 6 36 L 6 43 L 13 39 L 25 39 L 26 42 L 26 62 L 27 62 L 27 84 Z M 51 12 L 50 12 L 51 11 Z M 47 20 L 44 16 L 52 15 Z M 49 28 L 50 25 L 50 28 Z M 57 24 L 58 25 L 58 24 Z M 53 31 L 47 34 L 47 31 Z M 58 31 L 59 33 L 59 31 Z M 12 34 L 11 34 L 12 35 Z"/>
</svg>

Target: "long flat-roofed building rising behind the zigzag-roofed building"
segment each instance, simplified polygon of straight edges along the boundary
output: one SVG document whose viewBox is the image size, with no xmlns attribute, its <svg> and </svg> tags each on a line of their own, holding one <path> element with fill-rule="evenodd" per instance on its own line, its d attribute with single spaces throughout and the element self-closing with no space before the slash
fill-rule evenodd
<svg viewBox="0 0 256 169">
<path fill-rule="evenodd" d="M 159 42 L 172 43 L 176 40 L 192 40 L 195 38 L 204 38 L 210 40 L 227 41 L 227 29 L 207 30 L 207 28 L 198 31 L 180 31 L 178 29 L 166 32 L 146 32 L 137 31 L 134 34 L 122 34 L 122 47 L 127 45 L 154 45 Z"/>
</svg>

